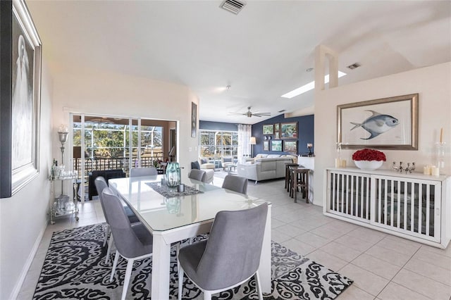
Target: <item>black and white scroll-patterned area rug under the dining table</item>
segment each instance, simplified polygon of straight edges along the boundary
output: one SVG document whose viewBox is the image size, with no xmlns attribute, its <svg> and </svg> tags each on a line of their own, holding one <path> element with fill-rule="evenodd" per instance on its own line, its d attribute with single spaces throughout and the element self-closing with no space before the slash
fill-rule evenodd
<svg viewBox="0 0 451 300">
<path fill-rule="evenodd" d="M 203 237 L 197 237 L 202 239 Z M 113 255 L 105 264 L 104 225 L 89 225 L 54 232 L 33 299 L 121 299 L 126 261 L 119 259 L 112 282 Z M 352 280 L 319 263 L 272 242 L 271 295 L 264 299 L 335 299 Z M 112 251 L 114 254 L 115 251 Z M 175 250 L 171 254 L 171 299 L 178 296 Z M 152 258 L 136 261 L 127 299 L 150 299 L 147 282 Z M 258 299 L 252 278 L 240 287 L 215 294 L 213 299 Z M 202 292 L 185 276 L 183 299 L 203 299 Z"/>
</svg>

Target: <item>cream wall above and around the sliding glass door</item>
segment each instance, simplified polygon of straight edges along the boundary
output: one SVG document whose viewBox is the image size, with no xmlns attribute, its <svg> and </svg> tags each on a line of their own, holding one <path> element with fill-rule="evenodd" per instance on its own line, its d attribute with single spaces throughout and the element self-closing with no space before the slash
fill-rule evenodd
<svg viewBox="0 0 451 300">
<path fill-rule="evenodd" d="M 197 159 L 197 137 L 191 137 L 191 102 L 199 101 L 183 85 L 98 70 L 54 70 L 53 157 L 61 157 L 58 125 L 69 124 L 69 113 L 119 115 L 175 120 L 178 130 L 178 162 L 190 170 Z M 199 115 L 199 113 L 197 113 Z M 199 121 L 198 121 L 199 122 Z M 71 137 L 69 137 L 71 139 Z M 69 155 L 65 155 L 68 165 Z M 60 158 L 61 159 L 61 158 Z"/>
</svg>

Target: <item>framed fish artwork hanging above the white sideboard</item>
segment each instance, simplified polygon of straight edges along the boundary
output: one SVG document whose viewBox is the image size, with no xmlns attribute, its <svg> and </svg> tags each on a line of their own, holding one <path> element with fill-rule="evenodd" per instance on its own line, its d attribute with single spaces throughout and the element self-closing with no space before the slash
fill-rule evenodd
<svg viewBox="0 0 451 300">
<path fill-rule="evenodd" d="M 418 150 L 418 94 L 337 106 L 342 149 Z"/>
</svg>

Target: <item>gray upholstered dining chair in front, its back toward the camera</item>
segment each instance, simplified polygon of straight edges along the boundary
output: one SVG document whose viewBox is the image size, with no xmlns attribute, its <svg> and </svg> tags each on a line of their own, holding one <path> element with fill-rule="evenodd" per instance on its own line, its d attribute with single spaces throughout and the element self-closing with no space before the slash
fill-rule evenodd
<svg viewBox="0 0 451 300">
<path fill-rule="evenodd" d="M 218 212 L 209 239 L 179 251 L 178 299 L 182 299 L 186 273 L 204 292 L 204 299 L 256 275 L 257 292 L 262 300 L 259 265 L 267 213 L 266 203 L 242 211 Z"/>
</svg>

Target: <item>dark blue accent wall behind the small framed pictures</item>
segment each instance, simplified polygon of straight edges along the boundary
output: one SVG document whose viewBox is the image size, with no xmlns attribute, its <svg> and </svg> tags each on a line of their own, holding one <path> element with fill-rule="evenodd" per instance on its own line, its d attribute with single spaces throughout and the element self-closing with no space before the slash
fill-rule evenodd
<svg viewBox="0 0 451 300">
<path fill-rule="evenodd" d="M 309 149 L 307 149 L 307 144 L 313 144 L 311 151 L 314 153 L 315 143 L 314 143 L 314 115 L 303 115 L 302 117 L 285 118 L 284 115 L 278 115 L 274 118 L 264 120 L 260 123 L 252 125 L 252 137 L 255 137 L 257 144 L 254 145 L 254 156 L 256 154 L 289 154 L 288 152 L 275 152 L 275 151 L 263 151 L 264 137 L 271 137 L 271 140 L 275 139 L 274 135 L 263 135 L 263 125 L 271 125 L 275 123 L 287 123 L 287 122 L 297 122 L 297 154 L 307 156 Z M 269 149 L 271 150 L 271 140 L 269 141 Z M 282 139 L 282 150 L 283 143 L 285 140 L 292 141 L 294 139 Z"/>
</svg>

